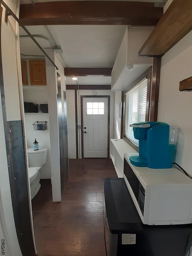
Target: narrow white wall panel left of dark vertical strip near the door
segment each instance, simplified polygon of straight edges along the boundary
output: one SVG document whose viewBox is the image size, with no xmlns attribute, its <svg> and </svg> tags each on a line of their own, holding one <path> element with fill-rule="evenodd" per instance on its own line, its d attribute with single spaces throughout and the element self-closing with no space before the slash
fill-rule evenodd
<svg viewBox="0 0 192 256">
<path fill-rule="evenodd" d="M 66 90 L 69 158 L 76 158 L 75 90 Z M 75 145 L 75 147 L 74 147 Z"/>
</svg>

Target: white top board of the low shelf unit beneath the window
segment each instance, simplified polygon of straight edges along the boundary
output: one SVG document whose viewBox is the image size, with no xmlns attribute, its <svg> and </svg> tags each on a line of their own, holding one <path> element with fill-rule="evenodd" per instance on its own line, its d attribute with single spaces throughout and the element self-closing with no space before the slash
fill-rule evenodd
<svg viewBox="0 0 192 256">
<path fill-rule="evenodd" d="M 122 160 L 124 159 L 124 153 L 137 153 L 135 149 L 133 149 L 128 143 L 125 142 L 125 140 L 120 139 L 111 139 L 111 142 L 113 143 L 116 151 L 119 153 Z"/>
</svg>

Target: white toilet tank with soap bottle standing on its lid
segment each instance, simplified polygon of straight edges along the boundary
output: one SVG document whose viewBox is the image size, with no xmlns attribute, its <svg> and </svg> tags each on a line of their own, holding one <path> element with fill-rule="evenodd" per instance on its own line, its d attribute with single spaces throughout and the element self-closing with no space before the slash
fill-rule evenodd
<svg viewBox="0 0 192 256">
<path fill-rule="evenodd" d="M 29 166 L 37 167 L 42 166 L 47 161 L 47 148 L 39 148 L 34 151 L 33 148 L 27 149 Z"/>
</svg>

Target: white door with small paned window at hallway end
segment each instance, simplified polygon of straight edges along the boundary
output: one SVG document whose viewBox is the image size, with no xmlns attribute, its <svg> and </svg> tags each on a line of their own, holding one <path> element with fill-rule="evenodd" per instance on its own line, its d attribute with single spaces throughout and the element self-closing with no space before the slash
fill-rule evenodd
<svg viewBox="0 0 192 256">
<path fill-rule="evenodd" d="M 83 98 L 84 157 L 107 158 L 108 98 Z"/>
</svg>

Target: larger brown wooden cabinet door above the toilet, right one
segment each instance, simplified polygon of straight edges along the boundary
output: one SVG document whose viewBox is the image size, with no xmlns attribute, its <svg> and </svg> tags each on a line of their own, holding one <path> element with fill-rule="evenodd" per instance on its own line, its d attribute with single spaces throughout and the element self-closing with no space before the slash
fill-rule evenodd
<svg viewBox="0 0 192 256">
<path fill-rule="evenodd" d="M 30 60 L 29 73 L 31 85 L 46 85 L 45 60 Z"/>
</svg>

